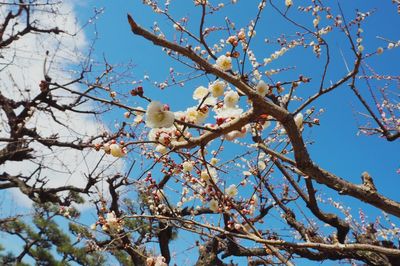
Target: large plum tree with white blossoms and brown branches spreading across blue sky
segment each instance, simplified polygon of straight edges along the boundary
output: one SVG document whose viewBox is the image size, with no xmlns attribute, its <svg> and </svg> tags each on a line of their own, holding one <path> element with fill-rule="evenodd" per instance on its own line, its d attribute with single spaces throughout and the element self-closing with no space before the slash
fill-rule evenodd
<svg viewBox="0 0 400 266">
<path fill-rule="evenodd" d="M 32 33 L 76 40 L 80 30 L 68 32 L 31 19 L 41 12 L 60 16 L 63 4 L 58 2 L 20 1 L 4 7 L 0 48 L 9 60 L 2 72 L 10 71 L 6 84 L 11 93 L 0 94 L 6 125 L 0 139 L 0 165 L 5 166 L 0 185 L 18 188 L 35 202 L 31 221 L 18 215 L 1 220 L 2 231 L 24 241 L 19 254 L 2 257 L 4 263 L 30 257 L 45 265 L 98 265 L 114 259 L 122 265 L 400 264 L 400 203 L 384 180 L 366 171 L 375 174 L 379 164 L 393 165 L 392 149 L 400 137 L 399 78 L 384 67 L 387 54 L 398 56 L 400 42 L 369 35 L 373 27 L 368 20 L 380 10 L 354 10 L 358 2 L 236 2 L 195 0 L 178 7 L 170 1 L 143 1 L 164 19 L 151 30 L 140 26 L 145 16 L 139 12 L 127 15 L 131 38 L 147 40 L 165 53 L 160 58 L 168 58 L 169 76 L 163 82 L 129 76 L 131 64 L 118 68 L 104 60 L 99 65 L 91 60 L 93 49 L 80 71 L 75 67 L 72 72 L 77 77 L 65 80 L 50 71 L 55 63 L 49 63 L 46 52 L 36 92 L 12 86 L 16 74 L 10 69 L 18 64 L 10 58 L 20 53 L 12 44 Z M 247 5 L 254 5 L 255 14 L 243 22 Z M 394 16 L 399 3 L 385 5 L 384 11 Z M 181 10 L 193 13 L 180 18 Z M 101 12 L 96 10 L 95 17 Z M 278 33 L 269 31 L 271 21 L 283 25 L 277 26 Z M 391 27 L 381 23 L 377 28 L 382 31 Z M 13 53 L 6 51 L 10 48 Z M 174 87 L 186 91 L 179 95 L 181 103 L 171 97 L 178 92 Z M 338 91 L 345 91 L 357 110 L 358 133 L 352 134 L 392 145 L 385 143 L 388 158 L 362 166 L 360 181 L 354 178 L 356 166 L 340 167 L 341 157 L 335 158 L 335 167 L 325 167 L 323 156 L 313 155 L 314 142 L 338 143 L 329 132 L 325 139 L 310 135 L 316 128 L 337 124 L 338 131 L 351 130 L 345 122 L 348 113 L 345 118 L 325 114 L 332 103 L 341 102 Z M 188 107 L 189 101 L 195 105 Z M 174 106 L 184 111 L 173 112 Z M 70 135 L 43 132 L 46 126 L 34 119 L 38 114 Z M 104 126 L 76 133 L 81 127 L 71 120 L 82 114 L 89 117 L 79 120 L 84 123 L 107 121 L 113 114 L 119 123 L 116 130 Z M 368 146 L 371 153 L 375 147 Z M 56 156 L 60 148 L 87 151 L 78 159 L 91 162 L 83 186 L 51 184 L 58 169 L 45 177 L 53 161 L 46 160 L 43 150 Z M 14 173 L 10 165 L 15 161 L 30 161 L 36 168 Z M 68 163 L 60 161 L 60 169 L 69 171 Z M 396 170 L 386 171 L 380 179 Z M 79 218 L 77 206 L 83 202 L 96 218 Z M 69 220 L 69 235 L 60 229 L 60 216 Z M 189 244 L 182 241 L 187 235 Z M 174 255 L 183 243 L 188 250 L 197 247 L 197 259 L 183 262 Z"/>
</svg>

